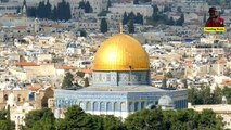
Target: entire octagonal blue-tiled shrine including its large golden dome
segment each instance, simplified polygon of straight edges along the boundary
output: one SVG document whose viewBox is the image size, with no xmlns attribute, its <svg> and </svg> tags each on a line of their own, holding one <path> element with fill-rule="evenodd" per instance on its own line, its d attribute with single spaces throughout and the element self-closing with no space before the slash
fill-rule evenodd
<svg viewBox="0 0 231 130">
<path fill-rule="evenodd" d="M 105 40 L 94 55 L 92 70 L 90 87 L 55 90 L 55 109 L 77 104 L 86 113 L 126 118 L 157 105 L 164 95 L 172 99 L 174 108 L 187 108 L 187 90 L 151 86 L 149 55 L 131 36 L 118 34 Z"/>
</svg>

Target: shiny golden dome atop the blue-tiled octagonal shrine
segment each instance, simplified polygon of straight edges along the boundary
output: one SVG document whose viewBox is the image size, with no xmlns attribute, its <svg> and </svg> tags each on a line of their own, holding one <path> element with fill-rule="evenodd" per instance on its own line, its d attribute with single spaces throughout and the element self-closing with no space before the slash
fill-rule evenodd
<svg viewBox="0 0 231 130">
<path fill-rule="evenodd" d="M 149 70 L 146 51 L 134 38 L 119 34 L 104 41 L 97 51 L 93 70 Z"/>
</svg>

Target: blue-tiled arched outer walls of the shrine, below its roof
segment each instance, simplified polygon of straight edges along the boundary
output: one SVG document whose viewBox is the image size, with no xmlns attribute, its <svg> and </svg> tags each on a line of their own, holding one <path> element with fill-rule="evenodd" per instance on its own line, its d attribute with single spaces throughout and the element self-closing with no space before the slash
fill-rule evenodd
<svg viewBox="0 0 231 130">
<path fill-rule="evenodd" d="M 179 94 L 180 93 L 180 94 Z M 137 112 L 153 104 L 168 94 L 175 101 L 175 108 L 187 108 L 187 91 L 171 90 L 168 92 L 82 92 L 74 90 L 56 90 L 55 106 L 67 108 L 74 104 L 86 112 Z"/>
</svg>

